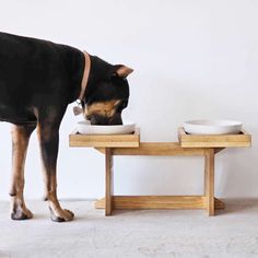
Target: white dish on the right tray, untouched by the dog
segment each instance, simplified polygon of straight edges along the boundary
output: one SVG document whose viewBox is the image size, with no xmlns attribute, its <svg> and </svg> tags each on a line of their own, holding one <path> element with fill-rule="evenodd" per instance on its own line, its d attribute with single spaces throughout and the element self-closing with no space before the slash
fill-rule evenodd
<svg viewBox="0 0 258 258">
<path fill-rule="evenodd" d="M 234 134 L 242 130 L 241 121 L 191 120 L 184 122 L 184 129 L 191 134 Z"/>
</svg>

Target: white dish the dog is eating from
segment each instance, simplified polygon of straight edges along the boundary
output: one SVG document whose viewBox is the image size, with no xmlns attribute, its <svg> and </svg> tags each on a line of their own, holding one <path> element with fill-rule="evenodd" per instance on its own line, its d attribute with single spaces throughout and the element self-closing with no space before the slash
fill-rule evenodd
<svg viewBox="0 0 258 258">
<path fill-rule="evenodd" d="M 136 124 L 124 121 L 119 126 L 92 126 L 90 121 L 79 121 L 77 129 L 82 134 L 127 134 L 136 130 Z"/>
</svg>

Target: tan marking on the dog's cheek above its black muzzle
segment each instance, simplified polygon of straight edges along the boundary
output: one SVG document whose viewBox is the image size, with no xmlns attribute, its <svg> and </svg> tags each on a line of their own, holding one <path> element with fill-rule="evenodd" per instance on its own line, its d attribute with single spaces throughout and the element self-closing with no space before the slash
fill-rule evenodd
<svg viewBox="0 0 258 258">
<path fill-rule="evenodd" d="M 99 115 L 105 117 L 113 117 L 116 114 L 116 107 L 121 101 L 113 99 L 108 102 L 97 102 L 86 106 L 84 116 Z"/>
</svg>

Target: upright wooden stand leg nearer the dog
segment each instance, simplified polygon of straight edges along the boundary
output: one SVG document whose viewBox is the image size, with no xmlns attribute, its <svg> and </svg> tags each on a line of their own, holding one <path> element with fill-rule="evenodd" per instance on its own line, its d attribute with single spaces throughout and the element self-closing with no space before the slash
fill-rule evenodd
<svg viewBox="0 0 258 258">
<path fill-rule="evenodd" d="M 105 149 L 105 166 L 106 166 L 106 192 L 105 192 L 105 215 L 112 214 L 113 209 L 113 154 L 112 149 Z"/>
</svg>

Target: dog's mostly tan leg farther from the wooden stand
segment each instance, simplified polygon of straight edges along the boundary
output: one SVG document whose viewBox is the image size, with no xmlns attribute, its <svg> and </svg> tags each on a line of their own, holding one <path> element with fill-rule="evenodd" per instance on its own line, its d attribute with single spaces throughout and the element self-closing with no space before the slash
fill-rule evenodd
<svg viewBox="0 0 258 258">
<path fill-rule="evenodd" d="M 26 220 L 33 216 L 25 206 L 23 189 L 27 145 L 35 128 L 36 124 L 12 126 L 12 183 L 10 196 L 12 198 L 11 218 L 13 220 Z"/>
</svg>

